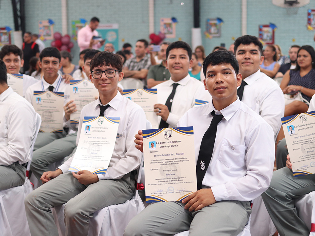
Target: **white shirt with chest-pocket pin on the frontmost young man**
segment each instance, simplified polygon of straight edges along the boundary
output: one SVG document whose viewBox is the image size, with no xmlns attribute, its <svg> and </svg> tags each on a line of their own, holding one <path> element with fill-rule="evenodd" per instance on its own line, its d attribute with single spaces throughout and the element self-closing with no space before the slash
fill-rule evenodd
<svg viewBox="0 0 315 236">
<path fill-rule="evenodd" d="M 213 110 L 210 100 L 187 111 L 178 122 L 178 127 L 194 127 L 197 168 L 200 144 L 210 126 Z M 203 187 L 211 187 L 216 201 L 255 199 L 268 188 L 272 177 L 275 156 L 272 128 L 238 98 L 216 111 L 218 114 L 224 118 L 218 124 Z"/>
</svg>

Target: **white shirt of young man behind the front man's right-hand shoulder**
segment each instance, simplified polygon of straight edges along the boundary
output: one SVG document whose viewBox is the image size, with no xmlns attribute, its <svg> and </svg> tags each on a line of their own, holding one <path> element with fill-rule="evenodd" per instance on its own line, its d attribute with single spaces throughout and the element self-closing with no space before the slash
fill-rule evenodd
<svg viewBox="0 0 315 236">
<path fill-rule="evenodd" d="M 246 77 L 242 102 L 259 114 L 273 129 L 277 138 L 284 116 L 284 95 L 272 78 L 260 70 Z"/>
</svg>

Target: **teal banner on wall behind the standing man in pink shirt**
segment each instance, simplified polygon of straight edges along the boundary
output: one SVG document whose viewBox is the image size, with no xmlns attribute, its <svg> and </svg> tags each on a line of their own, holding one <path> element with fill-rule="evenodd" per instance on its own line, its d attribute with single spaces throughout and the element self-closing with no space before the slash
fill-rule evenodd
<svg viewBox="0 0 315 236">
<path fill-rule="evenodd" d="M 97 32 L 105 39 L 105 44 L 110 42 L 114 45 L 115 51 L 119 50 L 118 24 L 99 24 Z M 99 49 L 100 51 L 104 51 L 105 44 Z"/>
</svg>

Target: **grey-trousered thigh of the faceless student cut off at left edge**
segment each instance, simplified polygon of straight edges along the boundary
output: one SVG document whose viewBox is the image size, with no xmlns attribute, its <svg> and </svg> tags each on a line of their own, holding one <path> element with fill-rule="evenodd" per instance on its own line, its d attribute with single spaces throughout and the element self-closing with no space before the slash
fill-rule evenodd
<svg viewBox="0 0 315 236">
<path fill-rule="evenodd" d="M 22 185 L 25 176 L 26 169 L 18 162 L 10 166 L 0 166 L 0 191 Z"/>
</svg>

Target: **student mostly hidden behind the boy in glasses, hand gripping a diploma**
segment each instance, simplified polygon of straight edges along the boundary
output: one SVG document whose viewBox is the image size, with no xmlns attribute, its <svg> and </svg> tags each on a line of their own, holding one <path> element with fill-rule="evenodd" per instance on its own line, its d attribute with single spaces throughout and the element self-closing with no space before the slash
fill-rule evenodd
<svg viewBox="0 0 315 236">
<path fill-rule="evenodd" d="M 84 50 L 83 50 L 84 51 Z M 84 55 L 84 65 L 83 71 L 85 76 L 89 76 L 90 72 L 90 61 L 96 53 L 99 53 L 99 50 L 89 49 L 88 52 Z M 69 88 L 70 89 L 70 88 Z M 77 106 L 73 103 L 73 100 L 67 102 L 64 109 L 64 122 L 67 127 L 70 127 L 72 130 L 77 131 L 77 125 L 71 125 L 70 115 L 77 111 Z M 48 166 L 56 161 L 62 160 L 67 156 L 72 156 L 76 150 L 76 140 L 77 132 L 69 132 L 68 135 L 64 138 L 59 138 L 51 143 L 47 143 L 43 147 L 36 149 L 33 152 L 33 158 L 31 162 L 31 171 L 38 180 L 43 175 L 43 172 L 49 171 Z M 72 155 L 71 155 L 72 154 Z M 39 181 L 41 183 L 41 181 Z"/>
</svg>

